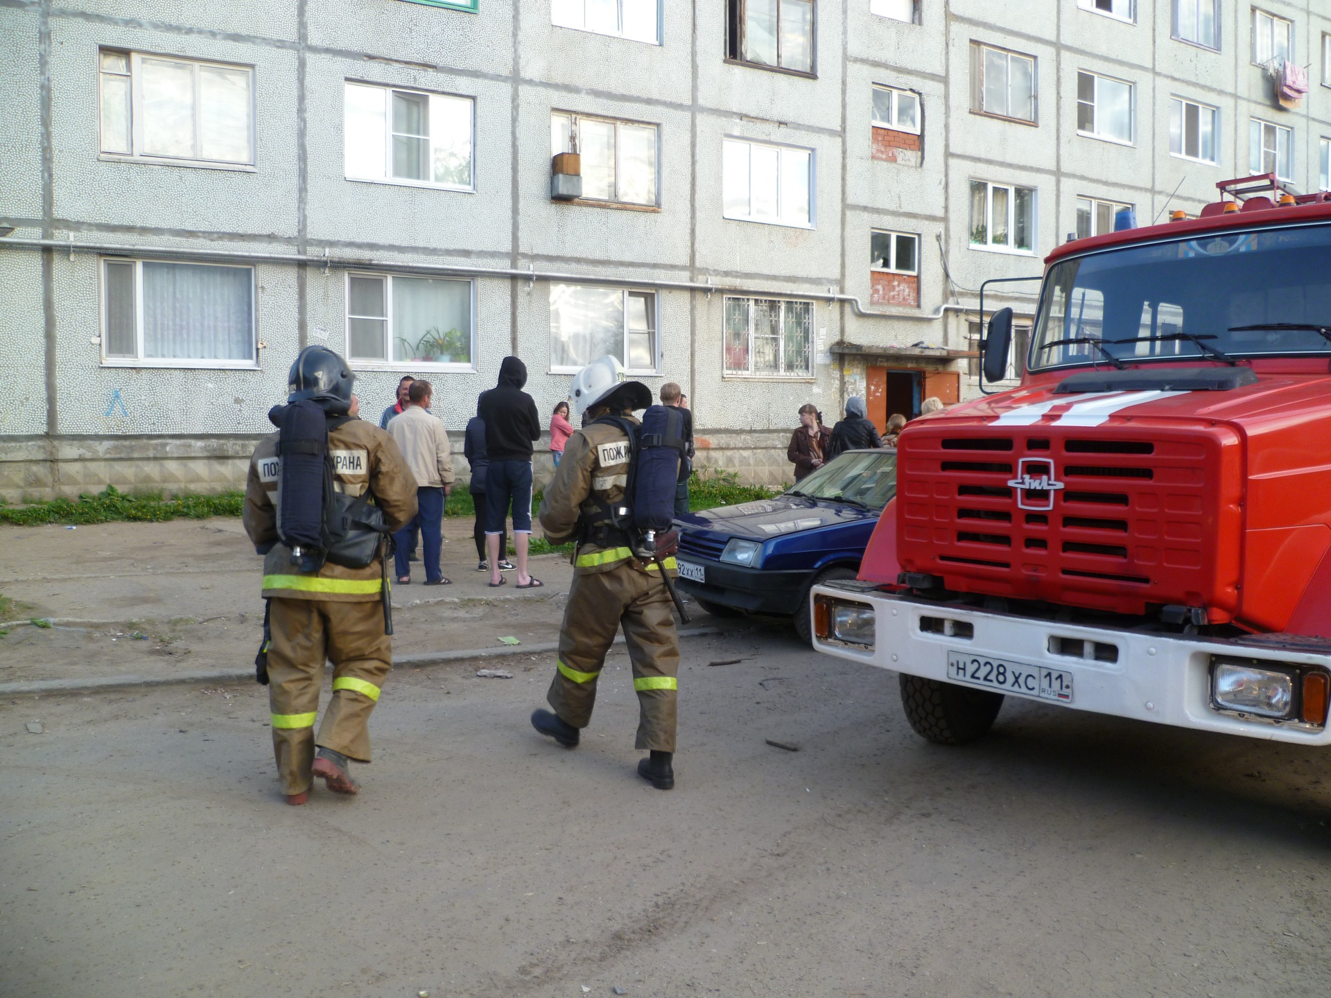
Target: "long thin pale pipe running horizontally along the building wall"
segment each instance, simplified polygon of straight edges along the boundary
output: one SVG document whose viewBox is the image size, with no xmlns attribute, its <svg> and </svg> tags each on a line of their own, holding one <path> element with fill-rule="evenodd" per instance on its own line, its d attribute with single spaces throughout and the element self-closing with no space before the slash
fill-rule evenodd
<svg viewBox="0 0 1331 998">
<path fill-rule="evenodd" d="M 0 248 L 9 249 L 44 249 L 52 248 L 65 250 L 71 254 L 79 253 L 114 253 L 129 257 L 186 257 L 192 259 L 238 259 L 262 263 L 314 263 L 325 270 L 330 266 L 345 267 L 347 270 L 386 270 L 394 273 L 425 273 L 425 274 L 453 274 L 457 277 L 507 277 L 524 281 L 567 281 L 570 283 L 599 283 L 624 287 L 666 287 L 679 291 L 720 291 L 723 294 L 752 294 L 773 295 L 783 294 L 767 287 L 743 287 L 735 285 L 713 285 L 697 281 L 656 281 L 652 278 L 603 277 L 600 274 L 563 274 L 552 270 L 518 270 L 515 267 L 475 267 L 458 266 L 453 263 L 411 263 L 395 259 L 373 259 L 357 257 L 330 257 L 313 253 L 264 253 L 248 250 L 217 250 L 196 249 L 193 246 L 125 246 L 109 242 L 75 242 L 73 240 L 28 240 L 28 238 L 0 238 Z M 941 319 L 949 311 L 974 311 L 965 305 L 944 303 L 933 313 L 917 311 L 869 311 L 853 294 L 836 294 L 833 291 L 800 291 L 783 297 L 812 298 L 820 302 L 847 302 L 856 315 L 874 319 L 912 319 L 933 322 Z"/>
</svg>

